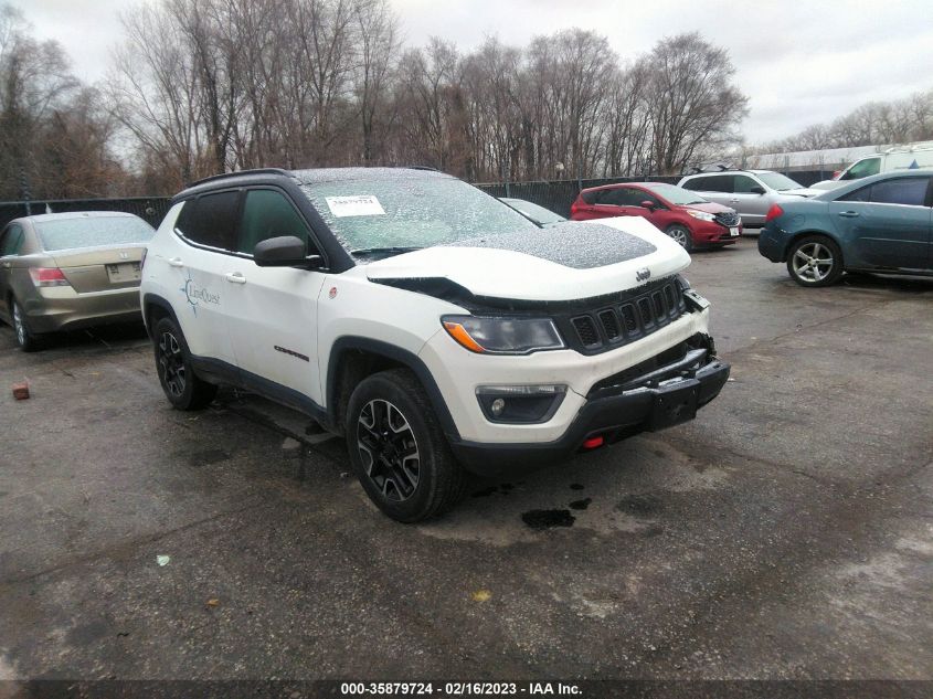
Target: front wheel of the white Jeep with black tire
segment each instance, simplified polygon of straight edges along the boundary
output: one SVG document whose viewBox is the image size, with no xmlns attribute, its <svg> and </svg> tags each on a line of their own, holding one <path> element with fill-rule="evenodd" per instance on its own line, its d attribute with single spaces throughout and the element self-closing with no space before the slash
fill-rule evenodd
<svg viewBox="0 0 933 699">
<path fill-rule="evenodd" d="M 450 453 L 431 401 L 407 369 L 364 379 L 347 405 L 347 449 L 367 495 L 385 515 L 417 522 L 453 508 L 467 474 Z"/>
</svg>

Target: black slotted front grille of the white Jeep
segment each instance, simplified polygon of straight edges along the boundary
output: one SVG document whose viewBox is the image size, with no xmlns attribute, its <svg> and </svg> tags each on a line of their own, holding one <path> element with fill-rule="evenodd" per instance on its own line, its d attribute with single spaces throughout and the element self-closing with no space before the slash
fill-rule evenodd
<svg viewBox="0 0 933 699">
<path fill-rule="evenodd" d="M 555 318 L 571 347 L 587 354 L 606 351 L 643 338 L 687 313 L 683 288 L 676 278 L 603 303 L 606 305 Z"/>
</svg>

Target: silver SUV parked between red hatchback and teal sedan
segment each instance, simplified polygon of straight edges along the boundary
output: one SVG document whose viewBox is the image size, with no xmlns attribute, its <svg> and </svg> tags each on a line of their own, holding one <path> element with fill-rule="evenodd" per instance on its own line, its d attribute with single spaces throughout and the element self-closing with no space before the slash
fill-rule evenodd
<svg viewBox="0 0 933 699">
<path fill-rule="evenodd" d="M 718 204 L 731 206 L 742 216 L 745 227 L 764 225 L 764 216 L 772 204 L 821 193 L 771 170 L 699 172 L 681 179 L 678 187 L 697 192 Z"/>
</svg>

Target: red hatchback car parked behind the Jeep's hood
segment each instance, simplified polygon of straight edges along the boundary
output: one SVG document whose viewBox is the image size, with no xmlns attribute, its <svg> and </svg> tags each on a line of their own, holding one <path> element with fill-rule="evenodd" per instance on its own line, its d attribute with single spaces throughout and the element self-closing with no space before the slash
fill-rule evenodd
<svg viewBox="0 0 933 699">
<path fill-rule="evenodd" d="M 733 209 L 664 182 L 584 189 L 570 208 L 574 221 L 611 216 L 644 216 L 688 252 L 731 245 L 742 233 L 742 219 Z"/>
</svg>

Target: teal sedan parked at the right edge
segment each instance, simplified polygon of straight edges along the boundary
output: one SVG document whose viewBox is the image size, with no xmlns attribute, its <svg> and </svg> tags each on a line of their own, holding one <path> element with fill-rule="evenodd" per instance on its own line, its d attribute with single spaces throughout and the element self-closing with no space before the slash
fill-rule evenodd
<svg viewBox="0 0 933 699">
<path fill-rule="evenodd" d="M 844 272 L 933 276 L 933 170 L 886 172 L 774 204 L 759 252 L 803 286 Z"/>
</svg>

